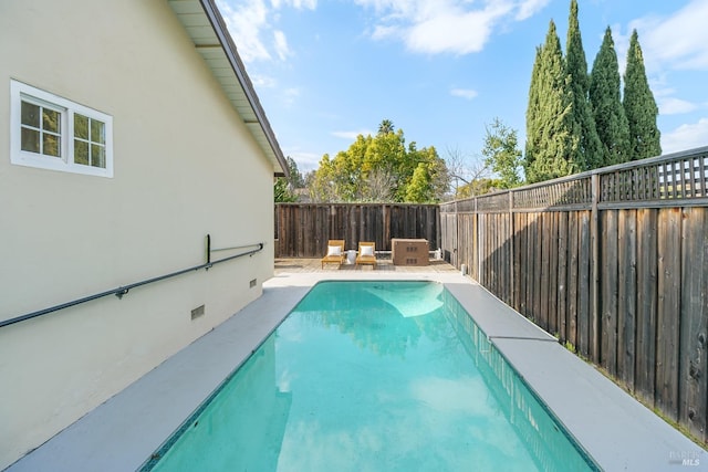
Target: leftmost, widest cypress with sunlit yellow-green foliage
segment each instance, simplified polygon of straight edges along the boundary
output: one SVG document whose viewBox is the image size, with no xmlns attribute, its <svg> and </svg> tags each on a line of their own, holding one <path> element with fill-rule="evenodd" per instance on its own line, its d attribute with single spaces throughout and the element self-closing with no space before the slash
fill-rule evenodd
<svg viewBox="0 0 708 472">
<path fill-rule="evenodd" d="M 528 132 L 532 135 L 527 140 L 524 165 L 530 183 L 569 176 L 580 170 L 570 160 L 579 146 L 579 137 L 572 134 L 573 97 L 570 77 L 552 20 L 537 60 L 539 67 L 532 77 L 534 90 L 529 93 L 528 115 L 532 115 L 532 123 L 527 125 L 531 126 Z"/>
</svg>

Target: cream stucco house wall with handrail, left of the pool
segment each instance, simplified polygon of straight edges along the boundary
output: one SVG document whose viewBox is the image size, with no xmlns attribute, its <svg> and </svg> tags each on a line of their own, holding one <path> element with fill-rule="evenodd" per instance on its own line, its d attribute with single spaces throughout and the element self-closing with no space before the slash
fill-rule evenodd
<svg viewBox="0 0 708 472">
<path fill-rule="evenodd" d="M 113 177 L 12 164 L 13 81 L 110 115 Z M 273 164 L 167 1 L 1 2 L 0 144 L 0 321 L 266 244 L 0 327 L 1 470 L 261 294 Z"/>
</svg>

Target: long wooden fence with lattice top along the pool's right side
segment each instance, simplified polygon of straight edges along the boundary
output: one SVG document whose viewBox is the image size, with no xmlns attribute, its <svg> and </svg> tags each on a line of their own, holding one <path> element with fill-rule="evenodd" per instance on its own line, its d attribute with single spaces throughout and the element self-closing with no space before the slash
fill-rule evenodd
<svg viewBox="0 0 708 472">
<path fill-rule="evenodd" d="M 708 147 L 440 207 L 445 258 L 708 442 Z"/>
</svg>

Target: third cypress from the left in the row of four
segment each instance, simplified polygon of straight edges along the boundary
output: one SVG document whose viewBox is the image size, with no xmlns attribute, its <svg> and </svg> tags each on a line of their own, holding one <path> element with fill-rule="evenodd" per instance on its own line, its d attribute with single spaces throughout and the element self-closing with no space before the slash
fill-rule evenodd
<svg viewBox="0 0 708 472">
<path fill-rule="evenodd" d="M 629 153 L 629 126 L 620 99 L 620 67 L 610 27 L 590 75 L 590 103 L 602 143 L 603 166 L 625 162 Z"/>
</svg>

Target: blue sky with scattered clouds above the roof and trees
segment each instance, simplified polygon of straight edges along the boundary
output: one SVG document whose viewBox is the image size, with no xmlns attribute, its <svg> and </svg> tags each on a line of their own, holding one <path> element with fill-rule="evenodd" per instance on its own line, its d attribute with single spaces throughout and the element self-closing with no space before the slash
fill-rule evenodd
<svg viewBox="0 0 708 472">
<path fill-rule="evenodd" d="M 570 0 L 218 0 L 266 114 L 301 171 L 391 119 L 418 148 L 479 159 L 494 117 L 525 143 L 535 48 Z M 579 0 L 589 70 L 633 29 L 664 153 L 708 145 L 708 1 Z"/>
</svg>

